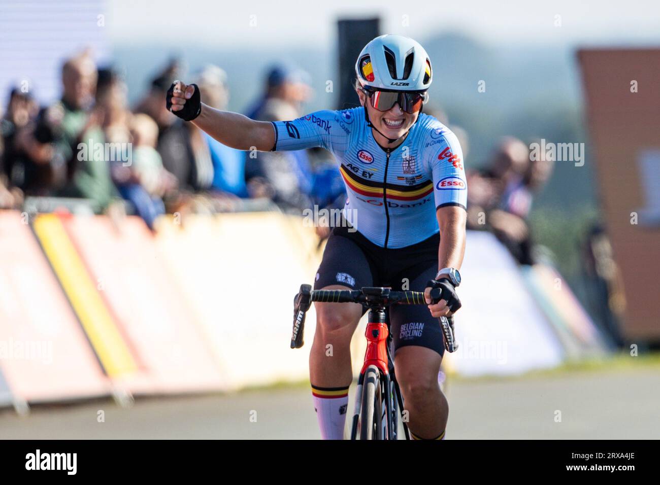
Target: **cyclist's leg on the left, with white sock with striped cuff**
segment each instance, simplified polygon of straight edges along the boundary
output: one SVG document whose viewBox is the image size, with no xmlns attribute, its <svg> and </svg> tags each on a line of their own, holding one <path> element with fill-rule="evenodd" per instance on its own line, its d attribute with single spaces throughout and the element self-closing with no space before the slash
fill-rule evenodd
<svg viewBox="0 0 660 485">
<path fill-rule="evenodd" d="M 372 284 L 364 252 L 352 240 L 332 234 L 314 288 L 354 290 Z M 316 303 L 316 331 L 310 351 L 310 383 L 323 439 L 343 439 L 348 387 L 353 375 L 350 339 L 362 316 L 359 304 Z"/>
</svg>

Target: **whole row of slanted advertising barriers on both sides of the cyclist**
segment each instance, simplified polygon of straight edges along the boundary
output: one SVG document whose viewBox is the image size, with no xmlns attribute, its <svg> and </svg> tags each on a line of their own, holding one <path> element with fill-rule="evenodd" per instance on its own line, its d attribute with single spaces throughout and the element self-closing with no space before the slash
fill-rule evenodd
<svg viewBox="0 0 660 485">
<path fill-rule="evenodd" d="M 133 216 L 42 214 L 32 230 L 24 222 L 0 212 L 0 344 L 46 342 L 46 358 L 5 351 L 0 404 L 308 378 L 314 306 L 306 345 L 292 350 L 292 300 L 314 282 L 323 248 L 300 217 L 162 216 L 155 233 Z M 521 270 L 492 235 L 468 233 L 461 273 L 448 372 L 512 375 L 603 352 L 570 289 L 553 285 L 554 270 Z M 365 342 L 362 323 L 354 363 Z"/>
</svg>

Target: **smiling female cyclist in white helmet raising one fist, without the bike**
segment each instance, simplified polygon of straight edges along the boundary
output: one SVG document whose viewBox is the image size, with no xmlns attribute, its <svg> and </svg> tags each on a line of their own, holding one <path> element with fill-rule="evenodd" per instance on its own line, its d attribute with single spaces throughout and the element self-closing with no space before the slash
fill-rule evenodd
<svg viewBox="0 0 660 485">
<path fill-rule="evenodd" d="M 463 154 L 455 135 L 422 113 L 433 71 L 420 44 L 396 35 L 375 38 L 362 49 L 355 71 L 360 108 L 291 121 L 253 121 L 215 110 L 200 102 L 195 84 L 179 81 L 166 103 L 232 148 L 322 146 L 333 152 L 348 193 L 347 224 L 333 229 L 315 288 L 426 291 L 428 309 L 390 309 L 395 372 L 413 437 L 443 439 L 449 408 L 438 385 L 445 348 L 437 318 L 461 307 L 455 287 L 465 250 Z M 431 288 L 443 288 L 446 298 L 432 304 Z M 310 352 L 314 407 L 321 436 L 342 439 L 352 381 L 350 339 L 362 306 L 318 303 L 316 313 Z"/>
</svg>

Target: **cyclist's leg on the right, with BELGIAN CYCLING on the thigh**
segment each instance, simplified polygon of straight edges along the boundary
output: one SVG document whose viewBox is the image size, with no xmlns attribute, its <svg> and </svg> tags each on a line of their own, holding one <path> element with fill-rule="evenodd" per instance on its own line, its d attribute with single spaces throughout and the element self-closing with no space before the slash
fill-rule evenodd
<svg viewBox="0 0 660 485">
<path fill-rule="evenodd" d="M 421 273 L 419 267 L 411 269 L 411 274 L 418 273 L 410 279 L 411 290 L 424 291 L 426 282 L 436 275 L 436 263 L 426 265 Z M 395 373 L 409 412 L 409 430 L 417 439 L 443 439 L 449 405 L 438 383 L 444 354 L 440 323 L 421 305 L 390 307 L 390 319 Z"/>
</svg>

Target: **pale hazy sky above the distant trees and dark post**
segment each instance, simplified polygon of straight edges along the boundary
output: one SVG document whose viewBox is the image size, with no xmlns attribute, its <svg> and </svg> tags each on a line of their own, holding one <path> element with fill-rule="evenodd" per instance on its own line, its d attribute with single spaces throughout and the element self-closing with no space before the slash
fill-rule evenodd
<svg viewBox="0 0 660 485">
<path fill-rule="evenodd" d="M 415 38 L 461 32 L 514 46 L 660 43 L 657 0 L 108 0 L 106 9 L 118 43 L 326 47 L 336 40 L 337 18 L 369 15 L 383 19 L 383 32 Z"/>
</svg>

